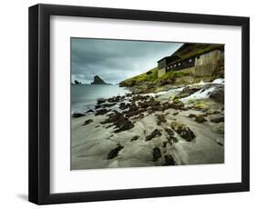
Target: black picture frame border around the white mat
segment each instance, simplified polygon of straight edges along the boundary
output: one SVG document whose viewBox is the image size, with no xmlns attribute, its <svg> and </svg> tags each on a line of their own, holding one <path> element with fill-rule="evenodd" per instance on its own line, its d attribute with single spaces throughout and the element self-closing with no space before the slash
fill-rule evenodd
<svg viewBox="0 0 256 209">
<path fill-rule="evenodd" d="M 50 194 L 50 16 L 241 26 L 241 183 Z M 239 136 L 238 136 L 239 137 Z M 250 190 L 250 18 L 114 8 L 33 5 L 29 7 L 29 201 L 65 204 Z"/>
</svg>

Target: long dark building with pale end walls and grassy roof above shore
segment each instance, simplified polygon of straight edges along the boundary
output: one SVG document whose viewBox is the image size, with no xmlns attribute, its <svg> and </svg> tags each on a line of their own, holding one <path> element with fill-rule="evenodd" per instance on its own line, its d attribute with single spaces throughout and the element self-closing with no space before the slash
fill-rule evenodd
<svg viewBox="0 0 256 209">
<path fill-rule="evenodd" d="M 196 76 L 210 76 L 224 70 L 224 45 L 184 44 L 170 56 L 158 61 L 158 76 L 182 71 Z"/>
</svg>

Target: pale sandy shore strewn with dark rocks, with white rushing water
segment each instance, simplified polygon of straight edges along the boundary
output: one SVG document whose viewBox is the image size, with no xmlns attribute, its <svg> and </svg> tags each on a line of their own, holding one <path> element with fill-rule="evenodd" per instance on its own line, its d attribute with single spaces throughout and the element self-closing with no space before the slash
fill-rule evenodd
<svg viewBox="0 0 256 209">
<path fill-rule="evenodd" d="M 99 98 L 73 114 L 71 168 L 224 163 L 221 82 Z"/>
</svg>

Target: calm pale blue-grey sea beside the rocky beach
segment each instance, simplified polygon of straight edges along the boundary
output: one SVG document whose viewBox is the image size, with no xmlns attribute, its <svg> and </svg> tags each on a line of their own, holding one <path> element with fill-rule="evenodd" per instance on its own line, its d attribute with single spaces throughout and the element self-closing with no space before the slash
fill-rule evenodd
<svg viewBox="0 0 256 209">
<path fill-rule="evenodd" d="M 98 98 L 109 98 L 114 95 L 128 93 L 125 87 L 118 85 L 72 85 L 71 86 L 71 111 L 85 113 L 94 108 Z"/>
</svg>

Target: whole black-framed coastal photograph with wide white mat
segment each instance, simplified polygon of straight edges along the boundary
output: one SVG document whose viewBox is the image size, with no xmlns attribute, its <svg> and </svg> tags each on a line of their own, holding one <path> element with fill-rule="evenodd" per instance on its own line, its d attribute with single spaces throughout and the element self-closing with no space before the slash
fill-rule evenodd
<svg viewBox="0 0 256 209">
<path fill-rule="evenodd" d="M 29 7 L 29 201 L 250 188 L 250 19 Z"/>
</svg>

